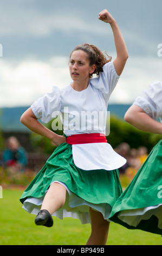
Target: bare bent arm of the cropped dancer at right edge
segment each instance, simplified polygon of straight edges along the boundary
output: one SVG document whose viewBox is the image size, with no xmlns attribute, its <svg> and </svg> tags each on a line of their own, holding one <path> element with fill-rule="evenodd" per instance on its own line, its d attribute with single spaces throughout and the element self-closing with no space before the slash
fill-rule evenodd
<svg viewBox="0 0 162 256">
<path fill-rule="evenodd" d="M 127 110 L 124 119 L 127 123 L 141 131 L 162 134 L 162 124 L 152 119 L 137 105 L 132 105 Z"/>
</svg>

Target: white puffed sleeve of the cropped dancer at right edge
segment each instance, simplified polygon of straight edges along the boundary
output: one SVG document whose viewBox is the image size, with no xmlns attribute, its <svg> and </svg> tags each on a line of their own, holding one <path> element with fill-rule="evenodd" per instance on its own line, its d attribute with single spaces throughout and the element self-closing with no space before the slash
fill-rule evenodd
<svg viewBox="0 0 162 256">
<path fill-rule="evenodd" d="M 157 120 L 162 118 L 162 83 L 154 81 L 150 84 L 150 87 L 141 93 L 134 101 L 134 105 L 137 105 L 144 109 L 144 111 L 150 115 L 151 118 Z"/>
</svg>

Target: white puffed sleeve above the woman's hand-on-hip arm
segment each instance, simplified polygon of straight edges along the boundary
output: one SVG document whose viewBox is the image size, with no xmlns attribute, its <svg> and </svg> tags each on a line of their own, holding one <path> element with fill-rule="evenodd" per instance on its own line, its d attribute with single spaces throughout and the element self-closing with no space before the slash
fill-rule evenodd
<svg viewBox="0 0 162 256">
<path fill-rule="evenodd" d="M 61 109 L 60 89 L 54 86 L 50 93 L 37 99 L 31 105 L 31 109 L 37 119 L 41 119 L 43 123 L 48 123 L 53 119 L 52 113 Z"/>
</svg>

